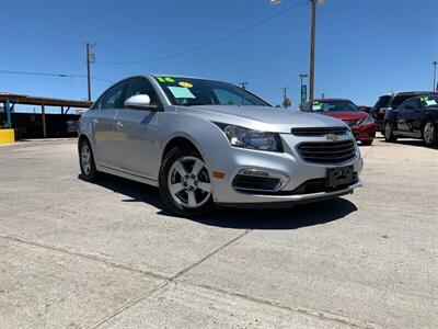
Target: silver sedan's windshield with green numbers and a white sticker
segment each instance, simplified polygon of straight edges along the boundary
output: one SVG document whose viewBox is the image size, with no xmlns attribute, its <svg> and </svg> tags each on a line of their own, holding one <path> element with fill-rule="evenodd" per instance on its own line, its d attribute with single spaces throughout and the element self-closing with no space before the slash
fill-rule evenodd
<svg viewBox="0 0 438 329">
<path fill-rule="evenodd" d="M 264 100 L 231 83 L 164 76 L 155 79 L 174 105 L 270 106 Z"/>
</svg>

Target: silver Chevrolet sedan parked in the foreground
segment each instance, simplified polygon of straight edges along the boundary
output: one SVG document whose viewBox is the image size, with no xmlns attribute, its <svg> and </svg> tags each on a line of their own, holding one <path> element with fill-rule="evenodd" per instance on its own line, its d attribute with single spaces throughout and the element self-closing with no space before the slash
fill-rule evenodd
<svg viewBox="0 0 438 329">
<path fill-rule="evenodd" d="M 106 172 L 159 186 L 181 216 L 215 205 L 288 207 L 361 185 L 364 162 L 342 121 L 206 79 L 116 83 L 82 116 L 78 144 L 83 179 Z"/>
</svg>

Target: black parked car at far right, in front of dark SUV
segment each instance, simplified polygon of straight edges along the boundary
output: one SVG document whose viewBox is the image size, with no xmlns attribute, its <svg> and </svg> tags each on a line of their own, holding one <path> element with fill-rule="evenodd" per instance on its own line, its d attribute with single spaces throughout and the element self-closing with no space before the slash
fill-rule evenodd
<svg viewBox="0 0 438 329">
<path fill-rule="evenodd" d="M 438 145 L 438 94 L 404 101 L 384 118 L 384 139 L 423 138 L 426 146 Z"/>
</svg>

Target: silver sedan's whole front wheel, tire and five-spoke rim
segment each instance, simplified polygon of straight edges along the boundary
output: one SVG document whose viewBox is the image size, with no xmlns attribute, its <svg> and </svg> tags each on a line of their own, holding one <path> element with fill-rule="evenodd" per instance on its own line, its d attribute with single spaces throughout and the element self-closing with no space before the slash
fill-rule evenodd
<svg viewBox="0 0 438 329">
<path fill-rule="evenodd" d="M 176 215 L 200 216 L 215 206 L 208 170 L 194 149 L 175 147 L 164 156 L 159 185 L 163 203 Z"/>
</svg>

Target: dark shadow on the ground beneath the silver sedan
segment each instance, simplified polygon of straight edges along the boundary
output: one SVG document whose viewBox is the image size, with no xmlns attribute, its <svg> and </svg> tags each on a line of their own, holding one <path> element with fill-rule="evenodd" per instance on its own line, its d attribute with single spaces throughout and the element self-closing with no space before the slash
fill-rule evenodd
<svg viewBox="0 0 438 329">
<path fill-rule="evenodd" d="M 82 175 L 78 177 L 83 179 Z M 123 178 L 104 174 L 95 184 L 126 195 L 122 202 L 143 202 L 157 207 L 162 216 L 174 215 L 166 211 L 157 188 Z M 338 220 L 357 211 L 354 203 L 336 197 L 313 204 L 297 205 L 290 208 L 218 208 L 208 216 L 178 218 L 203 225 L 235 229 L 297 229 Z"/>
</svg>

